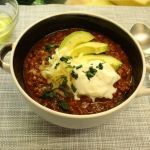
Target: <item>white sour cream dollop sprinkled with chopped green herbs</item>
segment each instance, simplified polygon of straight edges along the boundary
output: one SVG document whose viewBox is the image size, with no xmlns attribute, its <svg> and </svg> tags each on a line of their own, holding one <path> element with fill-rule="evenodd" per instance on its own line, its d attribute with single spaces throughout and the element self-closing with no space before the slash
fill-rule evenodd
<svg viewBox="0 0 150 150">
<path fill-rule="evenodd" d="M 73 79 L 73 84 L 76 87 L 76 95 L 87 95 L 95 100 L 95 98 L 113 98 L 113 93 L 116 88 L 113 86 L 120 79 L 120 76 L 114 68 L 108 63 L 102 63 L 103 68 L 98 69 L 97 66 L 102 63 L 99 60 L 90 61 L 88 64 L 82 65 L 82 68 L 77 69 L 77 79 Z M 93 66 L 97 70 L 95 75 L 88 79 L 86 73 L 89 67 Z"/>
</svg>

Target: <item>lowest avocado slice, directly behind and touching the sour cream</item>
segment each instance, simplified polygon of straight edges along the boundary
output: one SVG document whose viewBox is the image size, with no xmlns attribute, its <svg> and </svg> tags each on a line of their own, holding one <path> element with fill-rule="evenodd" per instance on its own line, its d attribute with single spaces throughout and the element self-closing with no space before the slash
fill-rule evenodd
<svg viewBox="0 0 150 150">
<path fill-rule="evenodd" d="M 110 64 L 115 70 L 118 70 L 119 67 L 122 65 L 122 62 L 118 59 L 116 59 L 113 56 L 106 55 L 106 54 L 100 54 L 100 55 L 84 55 L 80 60 L 83 63 L 88 63 L 92 60 L 100 60 L 102 62 Z"/>
</svg>

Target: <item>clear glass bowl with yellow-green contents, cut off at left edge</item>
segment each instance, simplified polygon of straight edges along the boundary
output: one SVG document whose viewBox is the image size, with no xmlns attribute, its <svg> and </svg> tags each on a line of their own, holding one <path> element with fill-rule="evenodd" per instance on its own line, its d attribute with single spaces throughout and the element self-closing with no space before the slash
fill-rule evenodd
<svg viewBox="0 0 150 150">
<path fill-rule="evenodd" d="M 0 46 L 7 42 L 18 20 L 16 0 L 0 0 Z"/>
</svg>

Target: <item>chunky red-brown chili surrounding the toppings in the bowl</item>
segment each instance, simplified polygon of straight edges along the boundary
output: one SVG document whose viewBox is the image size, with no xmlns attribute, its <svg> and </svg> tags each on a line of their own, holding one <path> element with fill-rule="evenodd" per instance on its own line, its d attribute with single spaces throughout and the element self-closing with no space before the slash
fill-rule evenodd
<svg viewBox="0 0 150 150">
<path fill-rule="evenodd" d="M 67 87 L 61 87 L 55 92 L 50 92 L 51 85 L 40 73 L 39 66 L 42 61 L 46 62 L 48 57 L 55 53 L 55 49 L 59 47 L 65 36 L 77 30 L 79 29 L 71 28 L 50 33 L 32 47 L 24 62 L 23 75 L 26 92 L 41 105 L 59 112 L 84 115 L 106 111 L 123 102 L 125 95 L 130 91 L 133 84 L 131 79 L 132 68 L 125 52 L 119 44 L 107 36 L 91 32 L 95 36 L 95 41 L 109 45 L 109 51 L 106 52 L 108 55 L 119 59 L 123 63 L 117 70 L 121 79 L 114 84 L 117 91 L 113 94 L 112 99 L 96 98 L 93 102 L 90 97 L 83 95 L 80 100 L 75 100 L 73 93 Z"/>
</svg>

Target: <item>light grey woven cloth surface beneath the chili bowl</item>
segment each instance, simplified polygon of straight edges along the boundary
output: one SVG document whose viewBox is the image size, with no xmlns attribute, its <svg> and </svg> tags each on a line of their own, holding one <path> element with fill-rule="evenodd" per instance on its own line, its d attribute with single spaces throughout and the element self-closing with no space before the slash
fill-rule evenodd
<svg viewBox="0 0 150 150">
<path fill-rule="evenodd" d="M 136 22 L 150 25 L 150 8 L 85 7 L 65 5 L 20 6 L 20 16 L 11 42 L 33 22 L 55 13 L 85 11 L 113 19 L 126 29 Z M 148 84 L 148 75 L 145 84 Z M 55 126 L 32 112 L 14 85 L 0 69 L 0 150 L 120 150 L 150 149 L 150 97 L 139 97 L 110 122 L 91 129 L 73 130 Z"/>
</svg>

